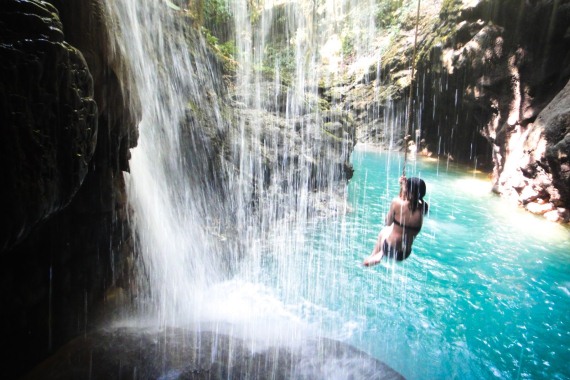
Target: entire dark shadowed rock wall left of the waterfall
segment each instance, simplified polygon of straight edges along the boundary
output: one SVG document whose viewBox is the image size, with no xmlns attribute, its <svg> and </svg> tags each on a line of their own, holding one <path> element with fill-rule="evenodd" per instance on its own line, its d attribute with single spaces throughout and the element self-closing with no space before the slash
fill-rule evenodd
<svg viewBox="0 0 570 380">
<path fill-rule="evenodd" d="M 122 171 L 136 118 L 103 7 L 4 1 L 0 9 L 3 375 L 95 323 L 130 252 Z M 83 306 L 81 306 L 83 305 Z"/>
</svg>

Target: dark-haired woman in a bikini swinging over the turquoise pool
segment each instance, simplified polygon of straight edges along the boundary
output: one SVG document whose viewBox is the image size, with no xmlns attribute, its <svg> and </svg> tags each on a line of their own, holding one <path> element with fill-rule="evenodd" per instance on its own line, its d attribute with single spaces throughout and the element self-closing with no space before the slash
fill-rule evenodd
<svg viewBox="0 0 570 380">
<path fill-rule="evenodd" d="M 402 261 L 412 253 L 412 244 L 422 228 L 428 204 L 423 200 L 426 183 L 417 177 L 400 178 L 400 196 L 394 198 L 386 215 L 386 226 L 378 235 L 378 241 L 365 266 L 380 263 L 382 257 Z"/>
</svg>

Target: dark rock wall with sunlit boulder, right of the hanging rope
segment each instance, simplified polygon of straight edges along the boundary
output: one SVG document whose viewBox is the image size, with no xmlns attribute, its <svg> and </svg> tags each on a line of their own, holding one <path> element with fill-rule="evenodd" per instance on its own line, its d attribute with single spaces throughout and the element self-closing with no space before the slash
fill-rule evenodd
<svg viewBox="0 0 570 380">
<path fill-rule="evenodd" d="M 428 149 L 491 158 L 495 192 L 568 222 L 570 2 L 468 3 L 444 2 L 424 40 L 419 93 L 436 100 L 422 104 Z"/>
</svg>

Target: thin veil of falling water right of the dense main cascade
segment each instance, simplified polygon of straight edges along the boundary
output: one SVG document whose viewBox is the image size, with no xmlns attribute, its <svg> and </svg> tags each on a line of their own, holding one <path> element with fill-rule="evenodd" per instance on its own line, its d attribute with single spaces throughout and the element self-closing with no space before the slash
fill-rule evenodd
<svg viewBox="0 0 570 380">
<path fill-rule="evenodd" d="M 249 2 L 230 2 L 236 59 L 241 63 L 235 97 L 247 107 L 231 139 L 239 145 L 233 162 L 240 174 L 230 176 L 229 186 L 237 194 L 237 225 L 244 232 L 239 239 L 246 249 L 232 286 L 243 286 L 248 295 L 254 287 L 259 292 L 254 300 L 272 299 L 269 307 L 275 314 L 268 315 L 255 302 L 250 308 L 257 315 L 248 317 L 256 331 L 260 318 L 269 321 L 268 329 L 261 329 L 267 338 L 286 316 L 284 334 L 289 340 L 307 330 L 319 334 L 326 328 L 319 321 L 328 311 L 316 302 L 323 295 L 319 276 L 311 279 L 309 273 L 317 269 L 330 273 L 334 268 L 313 256 L 316 247 L 307 241 L 307 231 L 316 221 L 322 222 L 320 217 L 336 220 L 347 209 L 345 183 L 340 181 L 343 167 L 337 163 L 339 156 L 348 161 L 352 146 L 343 144 L 339 151 L 323 143 L 327 132 L 318 122 L 342 123 L 345 111 L 334 99 L 332 111 L 323 111 L 319 85 L 340 79 L 341 39 L 346 34 L 352 36 L 356 54 L 370 54 L 359 60 L 365 67 L 353 67 L 352 74 L 377 62 L 371 53 L 376 47 L 376 5 L 374 1 L 262 3 L 262 8 L 253 10 Z M 259 19 L 252 21 L 251 14 L 257 12 Z M 272 50 L 276 45 L 278 54 Z M 268 81 L 260 68 L 270 70 L 273 80 Z M 269 178 L 260 173 L 270 173 Z M 312 259 L 303 260 L 306 257 Z M 259 288 L 260 284 L 264 285 Z"/>
</svg>

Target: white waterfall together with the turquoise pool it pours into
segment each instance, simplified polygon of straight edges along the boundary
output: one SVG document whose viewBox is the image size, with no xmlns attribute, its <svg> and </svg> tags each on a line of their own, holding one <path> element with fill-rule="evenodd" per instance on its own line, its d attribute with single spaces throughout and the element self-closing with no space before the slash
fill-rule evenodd
<svg viewBox="0 0 570 380">
<path fill-rule="evenodd" d="M 246 3 L 231 2 L 242 64 L 236 86 L 245 105 L 261 109 L 267 104 L 254 68 L 271 34 L 271 20 L 264 18 L 272 16 L 262 13 L 255 29 Z M 287 13 L 289 37 L 297 41 L 291 47 L 295 75 L 287 121 L 315 106 L 307 103 L 322 79 L 315 48 L 335 31 L 334 19 L 313 16 L 341 17 L 355 6 L 329 1 L 325 8 L 306 8 L 313 3 L 300 2 Z M 211 76 L 209 61 L 190 57 L 175 12 L 165 3 L 116 0 L 107 6 L 120 28 L 116 48 L 129 59 L 143 111 L 128 190 L 141 272 L 149 284 L 140 305 L 147 323 L 214 328 L 252 344 L 302 344 L 309 336 L 325 336 L 370 353 L 408 379 L 570 376 L 567 229 L 504 206 L 479 176 L 448 162 L 418 159 L 408 173 L 428 183 L 432 211 L 413 255 L 404 263 L 363 268 L 397 193 L 402 158 L 356 150 L 342 212 L 329 218 L 311 211 L 318 199 L 307 185 L 310 173 L 277 166 L 270 184 L 275 186 L 254 211 L 253 189 L 264 184 L 252 178 L 263 171 L 263 153 L 271 150 L 256 143 L 264 133 L 261 120 L 239 119 L 240 125 L 228 127 L 215 99 L 203 99 L 219 90 L 219 79 Z M 366 31 L 369 21 L 355 22 Z M 196 42 L 192 49 L 205 51 L 204 41 Z M 227 163 L 223 186 L 205 180 L 203 157 L 211 147 L 199 132 L 180 128 L 188 103 L 234 136 L 239 154 Z M 309 161 L 301 159 L 298 167 Z M 336 175 L 330 168 L 319 177 L 331 198 L 337 189 L 330 178 Z M 277 186 L 283 179 L 291 185 Z M 223 220 L 231 220 L 238 234 L 226 234 Z"/>
</svg>

